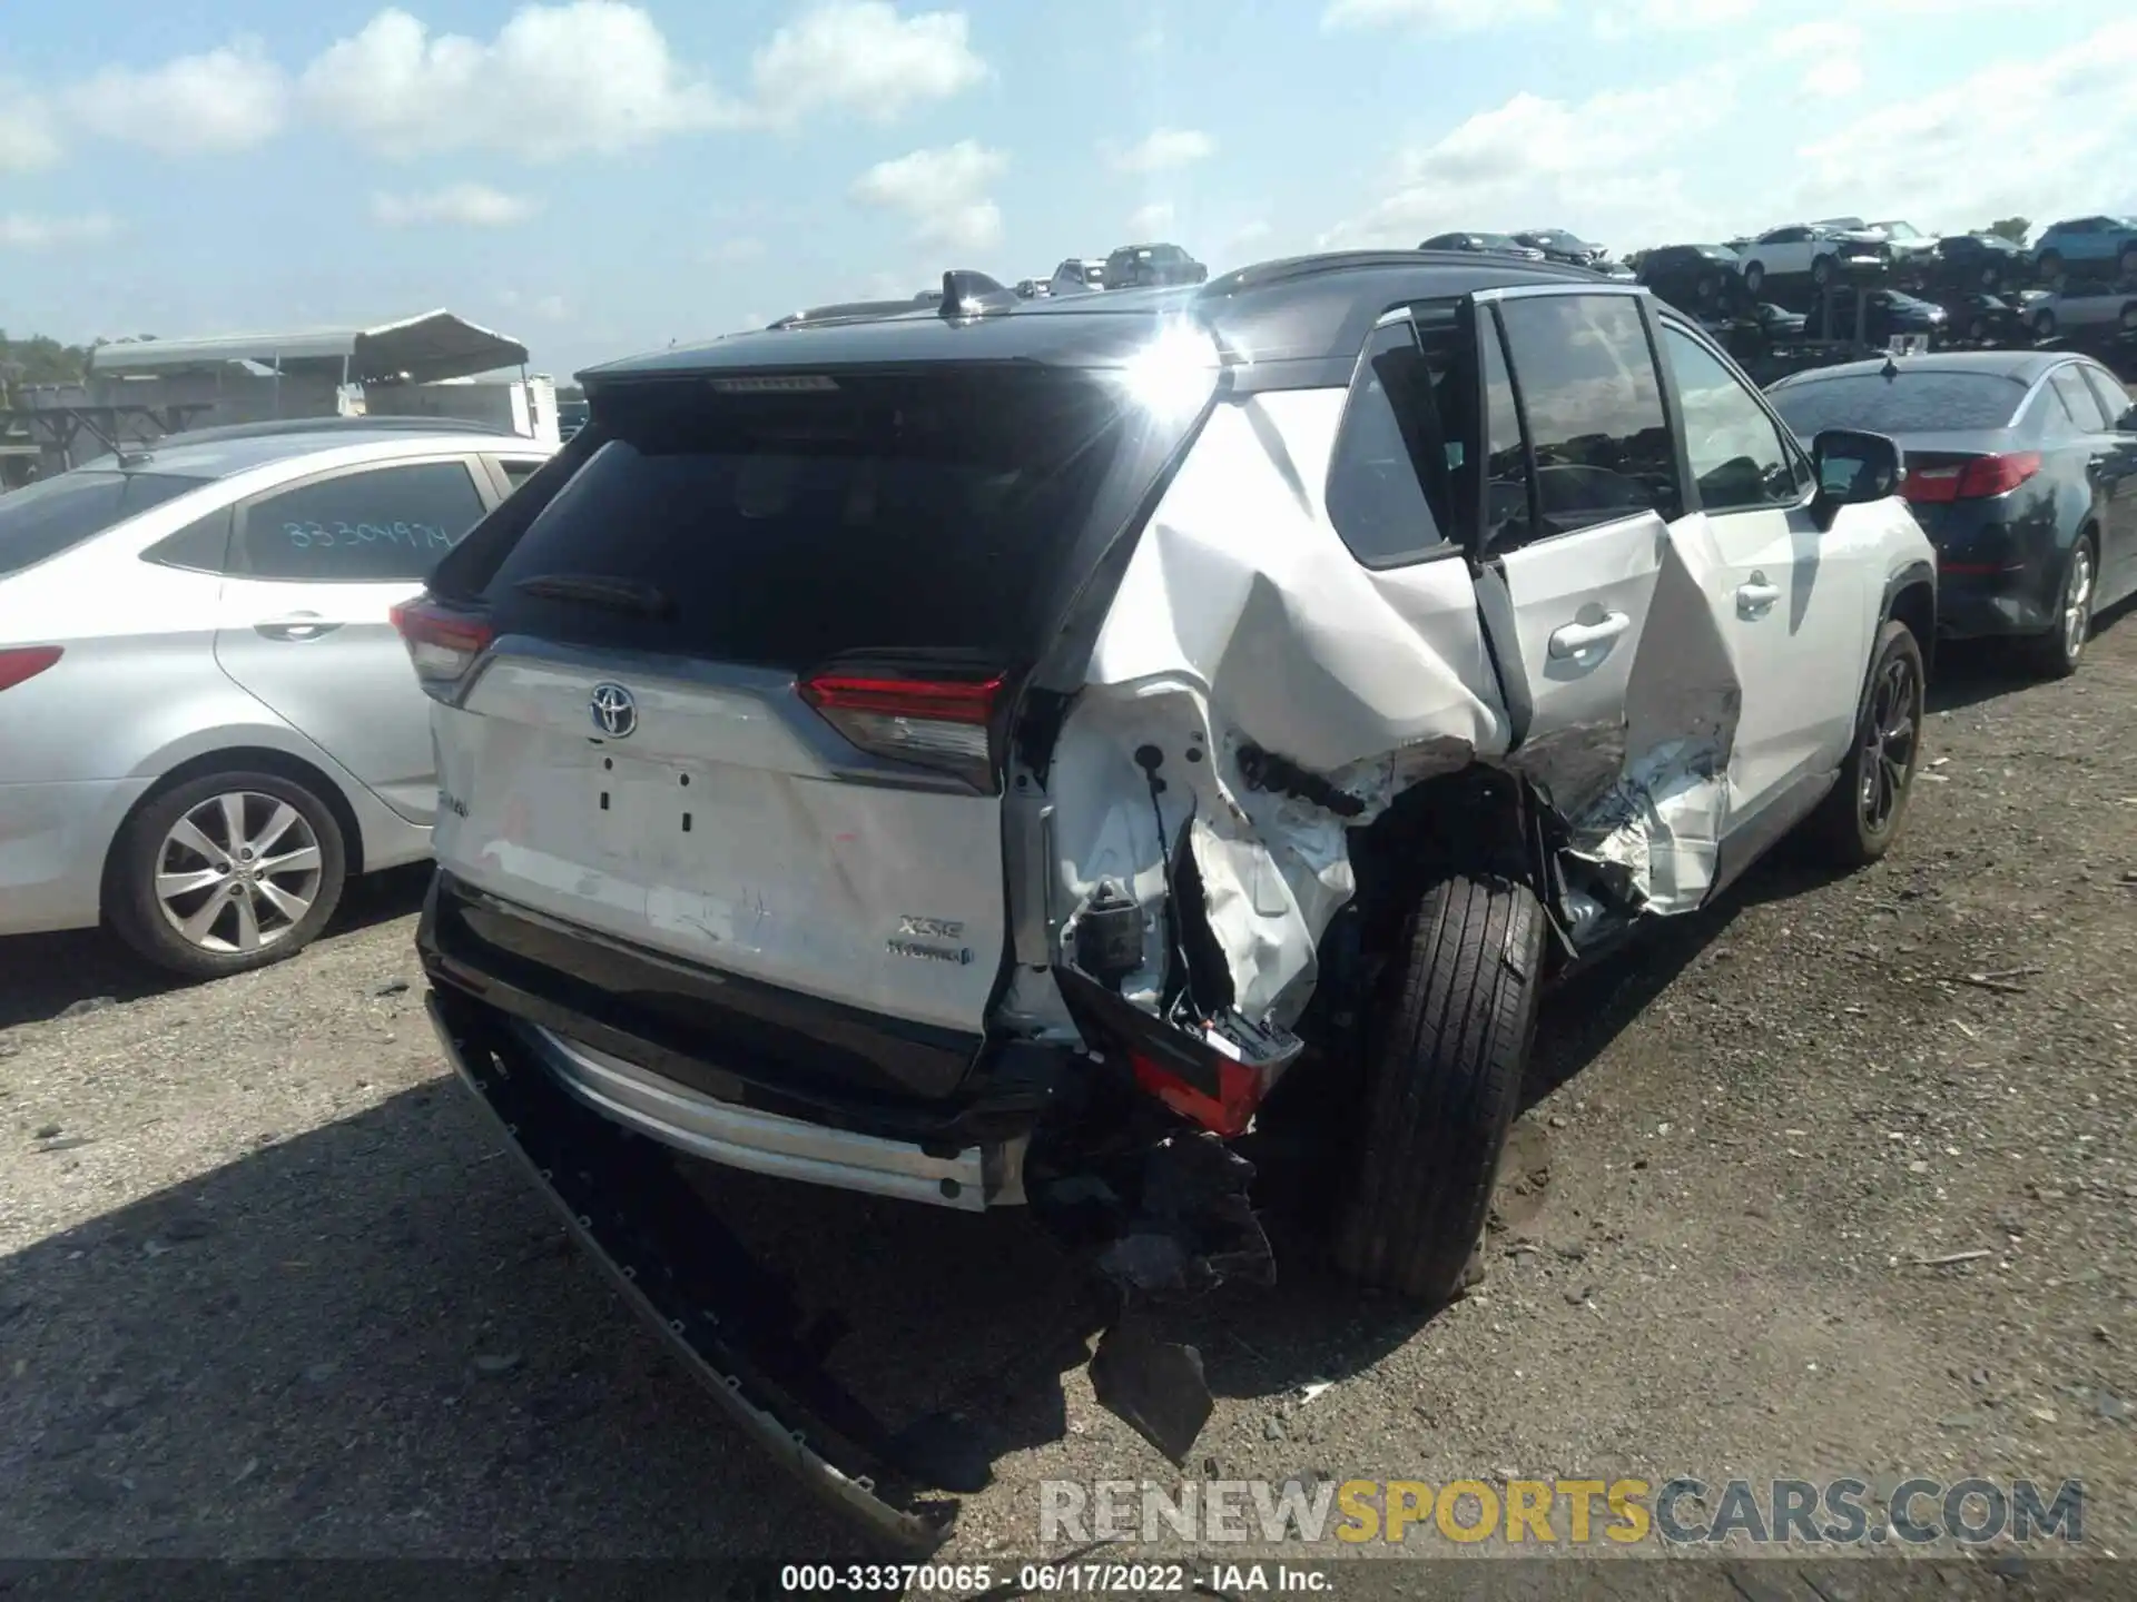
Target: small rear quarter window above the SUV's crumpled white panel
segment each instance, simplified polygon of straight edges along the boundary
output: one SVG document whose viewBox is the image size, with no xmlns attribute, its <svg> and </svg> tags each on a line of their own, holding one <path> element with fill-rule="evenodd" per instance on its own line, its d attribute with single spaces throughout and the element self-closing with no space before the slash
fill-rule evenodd
<svg viewBox="0 0 2137 1602">
<path fill-rule="evenodd" d="M 1329 461 L 1329 521 L 1370 568 L 1393 568 L 1447 547 L 1445 446 L 1430 459 L 1432 376 L 1408 323 L 1374 329 L 1351 380 Z M 1425 491 L 1425 474 L 1434 493 Z"/>
</svg>

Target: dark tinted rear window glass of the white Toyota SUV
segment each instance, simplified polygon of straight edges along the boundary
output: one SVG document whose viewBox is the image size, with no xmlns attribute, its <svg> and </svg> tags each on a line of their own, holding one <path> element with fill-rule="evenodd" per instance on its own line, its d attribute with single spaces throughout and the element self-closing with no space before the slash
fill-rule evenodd
<svg viewBox="0 0 2137 1602">
<path fill-rule="evenodd" d="M 1120 453 L 1122 399 L 1064 374 L 645 384 L 489 577 L 500 632 L 806 669 L 855 651 L 1019 660 Z M 609 581 L 624 604 L 532 594 Z"/>
</svg>

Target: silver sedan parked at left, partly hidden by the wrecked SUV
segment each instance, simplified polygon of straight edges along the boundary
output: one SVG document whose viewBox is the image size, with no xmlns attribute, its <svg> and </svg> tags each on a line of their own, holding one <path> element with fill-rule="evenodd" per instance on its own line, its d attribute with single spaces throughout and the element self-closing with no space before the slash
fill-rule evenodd
<svg viewBox="0 0 2137 1602">
<path fill-rule="evenodd" d="M 216 976 L 430 854 L 400 600 L 551 446 L 415 421 L 175 436 L 0 496 L 0 936 Z"/>
</svg>

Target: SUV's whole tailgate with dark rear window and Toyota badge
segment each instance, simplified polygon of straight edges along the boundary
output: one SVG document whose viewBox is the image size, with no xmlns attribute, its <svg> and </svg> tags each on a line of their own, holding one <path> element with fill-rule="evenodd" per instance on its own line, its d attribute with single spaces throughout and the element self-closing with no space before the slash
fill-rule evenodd
<svg viewBox="0 0 2137 1602">
<path fill-rule="evenodd" d="M 498 647 L 436 713 L 438 861 L 977 1036 L 1007 931 L 1000 681 L 1120 404 L 1047 370 L 752 382 L 611 387 L 600 449 L 494 570 L 451 575 Z"/>
</svg>

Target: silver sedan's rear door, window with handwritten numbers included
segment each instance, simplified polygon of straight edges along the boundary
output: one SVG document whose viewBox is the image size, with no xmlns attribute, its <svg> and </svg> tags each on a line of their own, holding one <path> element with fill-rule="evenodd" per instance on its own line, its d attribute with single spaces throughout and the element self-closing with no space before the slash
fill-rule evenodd
<svg viewBox="0 0 2137 1602">
<path fill-rule="evenodd" d="M 489 508 L 474 457 L 338 468 L 239 504 L 216 660 L 410 822 L 438 784 L 430 701 L 389 609 Z"/>
</svg>

